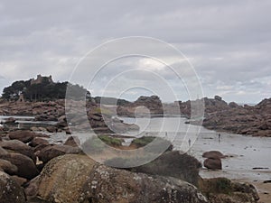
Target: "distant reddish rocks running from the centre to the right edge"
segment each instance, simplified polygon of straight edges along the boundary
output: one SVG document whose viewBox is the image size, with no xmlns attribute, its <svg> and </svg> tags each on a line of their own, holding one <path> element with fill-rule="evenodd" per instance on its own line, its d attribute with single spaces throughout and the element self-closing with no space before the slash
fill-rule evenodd
<svg viewBox="0 0 271 203">
<path fill-rule="evenodd" d="M 233 134 L 271 136 L 271 98 L 262 100 L 256 106 L 240 106 L 235 102 L 228 104 L 219 96 L 204 97 L 201 100 L 205 105 L 205 118 L 202 124 L 204 127 Z M 159 97 L 139 97 L 134 103 L 117 106 L 117 114 L 128 117 L 135 117 L 135 112 L 136 116 L 181 114 L 190 118 L 191 102 L 194 101 L 162 104 Z M 149 112 L 146 112 L 144 108 L 141 110 L 138 106 L 145 106 Z M 193 121 L 190 123 L 197 125 Z"/>
</svg>

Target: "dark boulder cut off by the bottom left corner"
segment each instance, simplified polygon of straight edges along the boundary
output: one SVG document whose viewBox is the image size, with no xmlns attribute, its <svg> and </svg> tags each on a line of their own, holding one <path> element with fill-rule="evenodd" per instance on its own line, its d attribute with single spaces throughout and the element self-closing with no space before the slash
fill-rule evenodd
<svg viewBox="0 0 271 203">
<path fill-rule="evenodd" d="M 0 171 L 0 202 L 24 203 L 23 189 L 5 172 Z"/>
</svg>

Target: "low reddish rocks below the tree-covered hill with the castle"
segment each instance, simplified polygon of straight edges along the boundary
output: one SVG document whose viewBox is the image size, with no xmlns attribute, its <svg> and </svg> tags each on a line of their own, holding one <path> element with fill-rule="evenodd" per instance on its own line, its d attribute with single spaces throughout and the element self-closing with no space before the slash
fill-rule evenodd
<svg viewBox="0 0 271 203">
<path fill-rule="evenodd" d="M 78 103 L 83 103 L 83 101 L 70 101 L 70 108 L 83 106 Z M 94 131 L 99 133 L 125 133 L 128 130 L 138 130 L 136 125 L 126 125 L 117 118 L 112 119 L 111 115 L 102 114 L 99 106 L 93 101 L 87 102 L 84 106 L 82 116 L 74 116 L 70 119 L 70 122 L 78 129 L 89 129 L 90 125 Z M 85 111 L 87 117 L 84 116 L 86 115 Z M 45 127 L 33 127 L 33 131 L 48 131 L 49 133 L 64 131 L 70 134 L 65 115 L 65 100 L 63 99 L 51 102 L 5 102 L 0 106 L 0 115 L 32 115 L 36 121 L 57 123 Z M 5 124 L 14 124 L 15 121 L 11 117 L 5 121 Z"/>
</svg>

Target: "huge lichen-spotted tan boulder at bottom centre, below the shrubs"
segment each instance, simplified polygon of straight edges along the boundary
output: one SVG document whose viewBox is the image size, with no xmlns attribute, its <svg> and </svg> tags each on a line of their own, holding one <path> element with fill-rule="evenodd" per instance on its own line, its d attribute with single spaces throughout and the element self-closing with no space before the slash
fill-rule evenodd
<svg viewBox="0 0 271 203">
<path fill-rule="evenodd" d="M 75 154 L 48 162 L 30 186 L 37 189 L 38 198 L 49 202 L 207 202 L 198 189 L 183 180 L 117 170 Z"/>
</svg>

